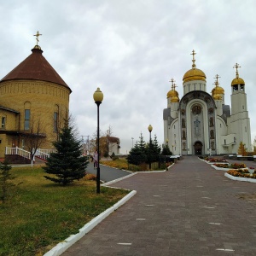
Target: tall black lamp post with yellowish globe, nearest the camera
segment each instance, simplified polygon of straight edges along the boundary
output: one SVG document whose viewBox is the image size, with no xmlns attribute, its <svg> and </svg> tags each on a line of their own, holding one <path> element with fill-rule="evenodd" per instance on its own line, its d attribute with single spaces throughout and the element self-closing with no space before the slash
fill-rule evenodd
<svg viewBox="0 0 256 256">
<path fill-rule="evenodd" d="M 95 93 L 93 94 L 93 99 L 97 105 L 97 175 L 96 175 L 96 192 L 97 194 L 101 193 L 101 170 L 100 170 L 100 105 L 103 100 L 103 93 L 98 87 Z"/>
</svg>

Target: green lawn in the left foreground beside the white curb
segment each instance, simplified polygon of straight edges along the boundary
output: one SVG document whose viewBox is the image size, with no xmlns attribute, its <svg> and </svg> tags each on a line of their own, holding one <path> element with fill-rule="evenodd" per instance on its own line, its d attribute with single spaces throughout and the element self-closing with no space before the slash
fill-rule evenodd
<svg viewBox="0 0 256 256">
<path fill-rule="evenodd" d="M 86 178 L 61 186 L 40 167 L 10 172 L 20 185 L 0 204 L 0 255 L 43 255 L 129 193 L 102 187 L 96 194 L 96 182 Z"/>
</svg>

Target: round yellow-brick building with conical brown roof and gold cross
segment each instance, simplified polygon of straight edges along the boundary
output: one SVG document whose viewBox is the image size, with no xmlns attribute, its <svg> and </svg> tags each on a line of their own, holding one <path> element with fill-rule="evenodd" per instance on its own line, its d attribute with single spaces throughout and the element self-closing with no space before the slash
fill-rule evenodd
<svg viewBox="0 0 256 256">
<path fill-rule="evenodd" d="M 38 36 L 37 41 L 38 41 Z M 37 44 L 32 54 L 0 81 L 0 158 L 5 148 L 26 149 L 29 133 L 40 128 L 42 148 L 53 148 L 72 90 L 44 58 Z"/>
</svg>

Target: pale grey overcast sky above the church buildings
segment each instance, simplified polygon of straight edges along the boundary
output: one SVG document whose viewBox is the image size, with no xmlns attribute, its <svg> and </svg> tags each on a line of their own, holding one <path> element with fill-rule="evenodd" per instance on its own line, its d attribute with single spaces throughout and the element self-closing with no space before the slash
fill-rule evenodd
<svg viewBox="0 0 256 256">
<path fill-rule="evenodd" d="M 183 74 L 195 64 L 214 77 L 230 105 L 235 63 L 241 68 L 256 136 L 256 1 L 253 0 L 9 0 L 0 4 L 1 79 L 31 54 L 37 31 L 44 57 L 73 90 L 70 111 L 80 135 L 96 131 L 93 93 L 104 99 L 100 125 L 120 138 L 120 153 L 131 149 L 148 125 L 164 140 L 163 108 L 175 79 L 180 98 Z"/>
</svg>

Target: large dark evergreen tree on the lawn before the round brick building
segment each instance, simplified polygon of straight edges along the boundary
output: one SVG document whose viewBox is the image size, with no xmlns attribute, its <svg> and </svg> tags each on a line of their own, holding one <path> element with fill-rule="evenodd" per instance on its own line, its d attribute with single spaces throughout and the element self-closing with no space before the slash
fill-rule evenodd
<svg viewBox="0 0 256 256">
<path fill-rule="evenodd" d="M 56 152 L 49 154 L 49 159 L 43 167 L 44 172 L 56 176 L 44 177 L 55 183 L 67 185 L 85 176 L 89 161 L 86 156 L 83 156 L 83 145 L 75 137 L 73 130 L 69 120 L 66 120 L 59 140 L 53 143 Z"/>
</svg>

